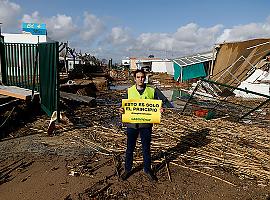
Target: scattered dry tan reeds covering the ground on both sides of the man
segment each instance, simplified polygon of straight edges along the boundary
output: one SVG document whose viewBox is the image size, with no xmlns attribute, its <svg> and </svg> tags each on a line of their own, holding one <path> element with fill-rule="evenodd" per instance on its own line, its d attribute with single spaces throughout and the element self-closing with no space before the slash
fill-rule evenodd
<svg viewBox="0 0 270 200">
<path fill-rule="evenodd" d="M 84 107 L 83 110 L 83 113 L 76 111 L 76 115 L 81 114 L 81 122 L 86 126 L 65 131 L 67 141 L 90 146 L 104 155 L 124 155 L 126 135 L 119 126 L 120 116 L 116 108 Z M 222 169 L 267 185 L 270 180 L 269 144 L 269 130 L 266 128 L 220 119 L 206 121 L 167 110 L 162 123 L 153 129 L 153 163 L 158 171 L 165 153 L 171 164 Z M 138 165 L 142 163 L 140 148 L 141 145 L 137 145 L 135 151 Z"/>
</svg>

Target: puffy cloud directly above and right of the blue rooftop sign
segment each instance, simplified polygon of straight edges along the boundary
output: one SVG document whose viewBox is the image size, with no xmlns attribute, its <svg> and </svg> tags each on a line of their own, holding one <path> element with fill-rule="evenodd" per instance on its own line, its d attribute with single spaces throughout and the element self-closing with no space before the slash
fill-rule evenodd
<svg viewBox="0 0 270 200">
<path fill-rule="evenodd" d="M 39 16 L 39 12 L 35 11 L 31 15 L 23 15 L 22 22 L 45 23 L 48 36 L 54 40 L 68 40 L 77 32 L 77 27 L 73 23 L 72 17 L 63 14 L 45 18 Z"/>
</svg>

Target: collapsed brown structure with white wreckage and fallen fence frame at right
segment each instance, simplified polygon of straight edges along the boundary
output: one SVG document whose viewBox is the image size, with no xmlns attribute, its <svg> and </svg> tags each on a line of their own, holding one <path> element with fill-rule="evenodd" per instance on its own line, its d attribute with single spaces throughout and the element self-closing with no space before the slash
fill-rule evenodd
<svg viewBox="0 0 270 200">
<path fill-rule="evenodd" d="M 224 43 L 215 49 L 207 78 L 200 78 L 189 98 L 182 98 L 183 112 L 269 126 L 270 40 Z"/>
</svg>

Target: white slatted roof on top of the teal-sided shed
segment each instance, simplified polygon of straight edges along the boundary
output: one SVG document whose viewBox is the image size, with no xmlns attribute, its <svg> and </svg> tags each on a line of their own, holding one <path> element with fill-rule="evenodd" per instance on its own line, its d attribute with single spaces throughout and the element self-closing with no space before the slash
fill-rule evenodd
<svg viewBox="0 0 270 200">
<path fill-rule="evenodd" d="M 210 61 L 213 59 L 213 54 L 210 53 L 204 53 L 204 54 L 197 54 L 193 56 L 185 56 L 181 58 L 173 59 L 174 62 L 176 62 L 181 67 L 194 65 L 197 63 L 202 63 L 206 61 Z"/>
</svg>

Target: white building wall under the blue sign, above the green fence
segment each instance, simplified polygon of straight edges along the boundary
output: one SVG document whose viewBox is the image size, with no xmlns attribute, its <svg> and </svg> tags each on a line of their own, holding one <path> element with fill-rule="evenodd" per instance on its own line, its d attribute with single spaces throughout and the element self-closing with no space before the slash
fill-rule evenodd
<svg viewBox="0 0 270 200">
<path fill-rule="evenodd" d="M 11 34 L 11 33 L 2 33 L 2 35 L 4 36 L 4 42 L 6 43 L 37 44 L 41 42 L 47 42 L 46 35 Z"/>
</svg>

